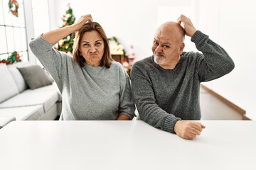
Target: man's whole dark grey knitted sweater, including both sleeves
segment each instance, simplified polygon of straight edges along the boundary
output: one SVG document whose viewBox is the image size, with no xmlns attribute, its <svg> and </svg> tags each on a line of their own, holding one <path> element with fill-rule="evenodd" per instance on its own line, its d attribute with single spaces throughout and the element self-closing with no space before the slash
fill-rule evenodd
<svg viewBox="0 0 256 170">
<path fill-rule="evenodd" d="M 200 83 L 222 77 L 235 64 L 227 52 L 197 30 L 191 38 L 201 52 L 183 52 L 174 69 L 163 69 L 154 56 L 132 67 L 132 94 L 142 120 L 174 133 L 178 120 L 200 120 Z"/>
</svg>

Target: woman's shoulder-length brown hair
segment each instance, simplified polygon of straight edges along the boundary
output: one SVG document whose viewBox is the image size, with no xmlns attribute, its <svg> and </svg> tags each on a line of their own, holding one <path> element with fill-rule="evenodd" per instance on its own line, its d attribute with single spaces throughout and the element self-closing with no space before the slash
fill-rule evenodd
<svg viewBox="0 0 256 170">
<path fill-rule="evenodd" d="M 104 41 L 104 54 L 102 60 L 100 60 L 100 66 L 110 68 L 111 61 L 113 60 L 110 55 L 110 43 L 107 40 L 107 35 L 103 30 L 102 26 L 100 26 L 100 23 L 97 22 L 85 23 L 85 25 L 82 26 L 82 28 L 78 30 L 78 32 L 75 34 L 75 41 L 73 45 L 73 58 L 75 62 L 77 62 L 80 65 L 80 67 L 85 66 L 86 61 L 85 58 L 81 55 L 79 45 L 81 43 L 82 35 L 92 30 L 96 30 L 97 33 L 99 33 L 102 36 L 102 39 Z"/>
</svg>

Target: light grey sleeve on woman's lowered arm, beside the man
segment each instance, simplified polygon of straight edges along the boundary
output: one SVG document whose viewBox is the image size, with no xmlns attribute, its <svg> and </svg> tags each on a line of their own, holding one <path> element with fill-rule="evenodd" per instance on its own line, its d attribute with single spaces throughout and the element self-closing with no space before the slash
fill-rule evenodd
<svg viewBox="0 0 256 170">
<path fill-rule="evenodd" d="M 131 82 L 124 68 L 120 68 L 121 93 L 119 102 L 119 114 L 127 115 L 130 120 L 135 116 L 135 104 L 132 98 Z"/>
</svg>

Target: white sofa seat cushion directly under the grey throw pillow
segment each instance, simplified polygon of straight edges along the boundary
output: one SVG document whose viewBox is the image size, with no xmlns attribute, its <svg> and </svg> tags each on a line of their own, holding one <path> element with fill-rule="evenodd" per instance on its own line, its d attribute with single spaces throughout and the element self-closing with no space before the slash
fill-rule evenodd
<svg viewBox="0 0 256 170">
<path fill-rule="evenodd" d="M 13 108 L 21 106 L 35 106 L 43 105 L 44 112 L 58 101 L 57 91 L 36 91 L 33 93 L 21 93 L 13 98 L 9 98 L 8 101 L 0 103 L 0 108 Z"/>
</svg>

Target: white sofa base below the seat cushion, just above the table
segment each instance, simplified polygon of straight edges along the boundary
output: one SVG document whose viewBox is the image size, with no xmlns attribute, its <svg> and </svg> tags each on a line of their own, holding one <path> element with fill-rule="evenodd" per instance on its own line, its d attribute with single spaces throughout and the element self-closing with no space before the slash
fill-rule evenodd
<svg viewBox="0 0 256 170">
<path fill-rule="evenodd" d="M 42 105 L 18 108 L 0 108 L 0 118 L 3 116 L 14 116 L 16 120 L 39 120 L 43 114 Z"/>
</svg>

